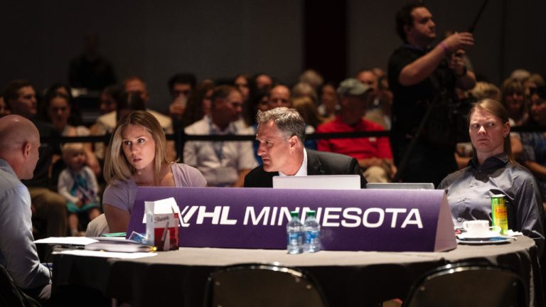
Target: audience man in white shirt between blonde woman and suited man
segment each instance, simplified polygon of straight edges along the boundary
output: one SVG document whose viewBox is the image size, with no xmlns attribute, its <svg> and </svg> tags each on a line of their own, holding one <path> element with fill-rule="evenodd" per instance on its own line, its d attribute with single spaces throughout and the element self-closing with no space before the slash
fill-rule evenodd
<svg viewBox="0 0 546 307">
<path fill-rule="evenodd" d="M 186 127 L 186 134 L 246 134 L 235 122 L 242 112 L 242 95 L 228 85 L 213 91 L 210 114 Z M 184 162 L 198 168 L 211 186 L 242 187 L 246 174 L 257 166 L 250 141 L 188 141 Z"/>
</svg>

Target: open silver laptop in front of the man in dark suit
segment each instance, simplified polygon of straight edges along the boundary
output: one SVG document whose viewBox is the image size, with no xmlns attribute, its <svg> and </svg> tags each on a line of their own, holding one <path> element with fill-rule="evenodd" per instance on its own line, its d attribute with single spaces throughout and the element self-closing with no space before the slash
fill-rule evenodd
<svg viewBox="0 0 546 307">
<path fill-rule="evenodd" d="M 274 176 L 273 188 L 310 190 L 360 190 L 360 176 Z"/>
</svg>

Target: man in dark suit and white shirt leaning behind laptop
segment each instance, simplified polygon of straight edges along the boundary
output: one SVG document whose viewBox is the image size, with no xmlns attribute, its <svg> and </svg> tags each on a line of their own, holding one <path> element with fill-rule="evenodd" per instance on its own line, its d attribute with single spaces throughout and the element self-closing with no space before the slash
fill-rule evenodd
<svg viewBox="0 0 546 307">
<path fill-rule="evenodd" d="M 342 154 L 304 148 L 305 123 L 295 109 L 278 107 L 257 114 L 258 156 L 263 165 L 245 177 L 245 187 L 272 188 L 273 176 L 359 175 L 358 161 Z"/>
</svg>

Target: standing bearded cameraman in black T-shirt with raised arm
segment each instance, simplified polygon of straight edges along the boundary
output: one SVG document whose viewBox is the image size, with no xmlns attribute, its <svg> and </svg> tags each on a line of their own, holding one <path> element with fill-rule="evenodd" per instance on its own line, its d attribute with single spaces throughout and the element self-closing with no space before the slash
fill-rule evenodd
<svg viewBox="0 0 546 307">
<path fill-rule="evenodd" d="M 430 48 L 435 27 L 432 14 L 422 4 L 408 4 L 397 12 L 397 33 L 404 44 L 391 55 L 388 75 L 394 95 L 391 140 L 397 177 L 437 185 L 457 168 L 454 106 L 449 101 L 456 99 L 456 87 L 468 90 L 475 78 L 460 56 L 473 45 L 472 34 L 454 33 Z M 416 136 L 429 108 L 424 129 Z M 414 138 L 418 139 L 408 152 Z"/>
</svg>

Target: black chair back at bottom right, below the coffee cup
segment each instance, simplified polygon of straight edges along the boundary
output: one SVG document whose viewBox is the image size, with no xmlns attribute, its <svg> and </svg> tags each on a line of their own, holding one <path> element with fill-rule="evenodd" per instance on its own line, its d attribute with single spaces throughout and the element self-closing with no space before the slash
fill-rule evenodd
<svg viewBox="0 0 546 307">
<path fill-rule="evenodd" d="M 510 269 L 484 264 L 448 264 L 417 281 L 402 307 L 527 306 L 523 280 Z"/>
</svg>

